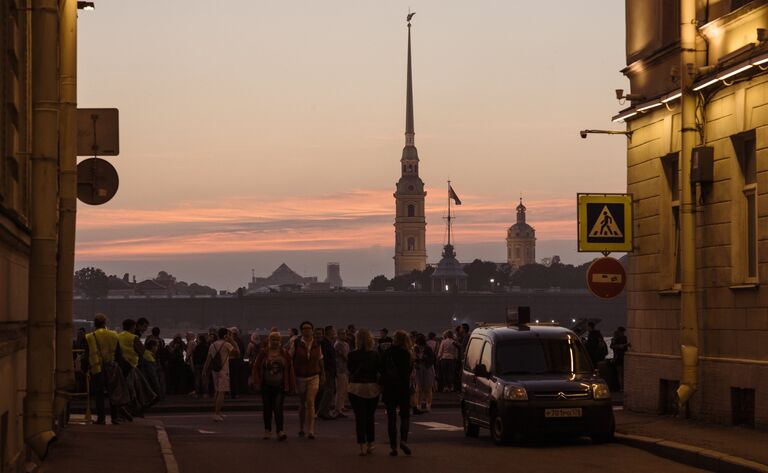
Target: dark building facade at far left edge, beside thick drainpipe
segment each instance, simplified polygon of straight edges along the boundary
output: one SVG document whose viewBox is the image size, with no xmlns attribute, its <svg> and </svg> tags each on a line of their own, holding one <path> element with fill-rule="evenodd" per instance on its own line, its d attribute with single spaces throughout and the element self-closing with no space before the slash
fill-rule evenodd
<svg viewBox="0 0 768 473">
<path fill-rule="evenodd" d="M 29 13 L 0 0 L 0 471 L 24 461 L 22 403 L 27 387 L 29 156 L 31 94 Z"/>
</svg>

